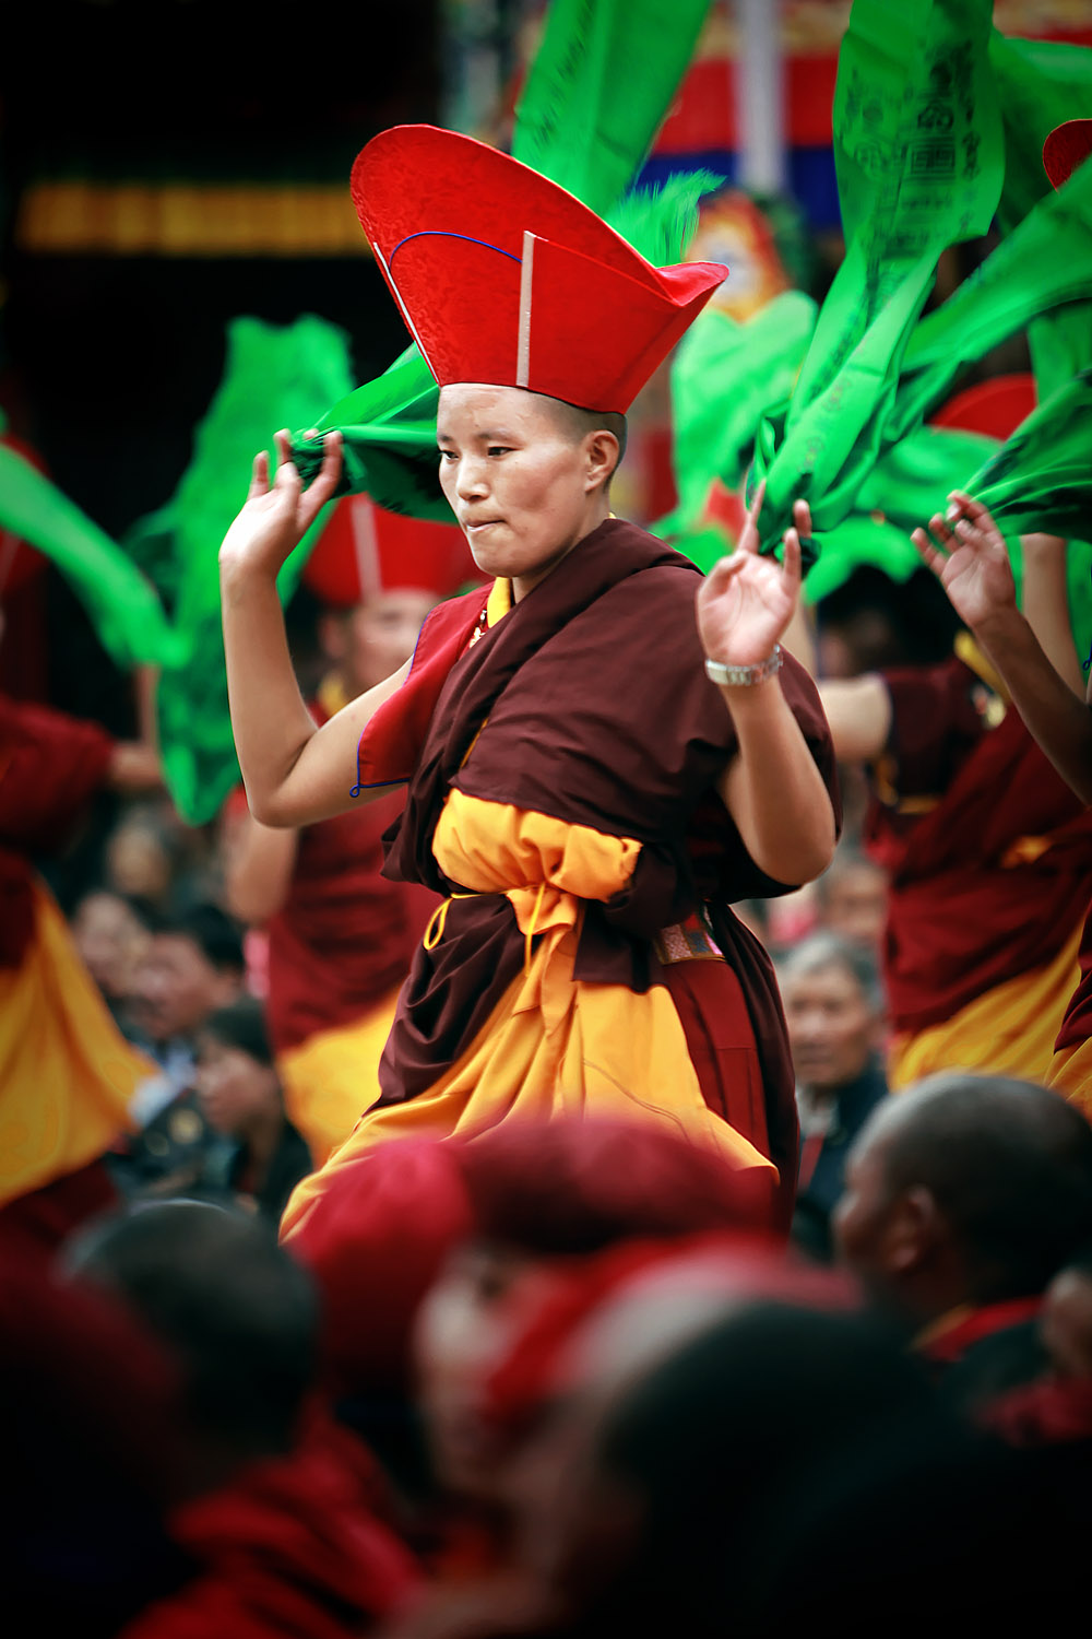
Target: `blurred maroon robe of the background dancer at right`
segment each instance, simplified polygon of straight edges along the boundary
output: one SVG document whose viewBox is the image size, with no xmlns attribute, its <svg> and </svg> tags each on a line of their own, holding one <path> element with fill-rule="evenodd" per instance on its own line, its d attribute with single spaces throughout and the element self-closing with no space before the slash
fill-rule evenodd
<svg viewBox="0 0 1092 1639">
<path fill-rule="evenodd" d="M 1092 895 L 1092 811 L 961 659 L 882 674 L 889 754 L 868 852 L 891 874 L 896 1031 L 943 1023 L 1058 956 Z"/>
</svg>

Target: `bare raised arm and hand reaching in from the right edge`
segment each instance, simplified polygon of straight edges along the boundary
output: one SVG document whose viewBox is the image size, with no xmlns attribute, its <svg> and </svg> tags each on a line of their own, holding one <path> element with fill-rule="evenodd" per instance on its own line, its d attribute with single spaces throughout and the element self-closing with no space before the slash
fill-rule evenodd
<svg viewBox="0 0 1092 1639">
<path fill-rule="evenodd" d="M 1009 551 L 987 508 L 961 490 L 953 490 L 950 503 L 946 520 L 932 518 L 928 533 L 914 531 L 914 544 L 990 657 L 1017 711 L 1063 780 L 1082 801 L 1092 803 L 1089 700 L 1059 674 L 1031 621 L 1017 608 Z M 1041 634 L 1051 641 L 1049 631 L 1041 629 Z M 1067 649 L 1072 649 L 1071 639 Z M 1059 659 L 1069 670 L 1066 646 Z"/>
</svg>

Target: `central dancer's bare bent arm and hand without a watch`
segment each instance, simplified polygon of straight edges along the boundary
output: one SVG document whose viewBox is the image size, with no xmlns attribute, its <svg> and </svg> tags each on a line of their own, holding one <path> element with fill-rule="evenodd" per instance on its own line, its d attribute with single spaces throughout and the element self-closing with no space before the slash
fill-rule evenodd
<svg viewBox="0 0 1092 1639">
<path fill-rule="evenodd" d="M 354 806 L 360 734 L 403 683 L 409 661 L 316 728 L 285 634 L 277 574 L 334 495 L 341 434 L 327 433 L 323 465 L 303 488 L 288 433 L 277 433 L 277 475 L 254 457 L 250 492 L 219 549 L 228 701 L 250 813 L 267 826 L 300 826 Z M 363 792 L 355 801 L 368 801 Z"/>
</svg>

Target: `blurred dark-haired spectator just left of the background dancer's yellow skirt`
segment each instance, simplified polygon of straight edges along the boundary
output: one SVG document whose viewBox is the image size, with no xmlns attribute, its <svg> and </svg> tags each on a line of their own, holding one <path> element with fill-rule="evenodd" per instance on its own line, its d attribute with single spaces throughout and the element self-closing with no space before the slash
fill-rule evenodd
<svg viewBox="0 0 1092 1639">
<path fill-rule="evenodd" d="M 275 1224 L 291 1190 L 311 1170 L 311 1152 L 285 1116 L 265 1011 L 239 997 L 211 1013 L 196 1039 L 196 1093 L 213 1133 L 201 1183 L 232 1195 Z"/>
</svg>

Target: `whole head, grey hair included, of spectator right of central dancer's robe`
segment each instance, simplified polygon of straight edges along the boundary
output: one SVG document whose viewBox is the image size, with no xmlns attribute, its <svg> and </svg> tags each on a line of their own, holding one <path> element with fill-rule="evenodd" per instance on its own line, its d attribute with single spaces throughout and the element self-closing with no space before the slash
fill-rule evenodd
<svg viewBox="0 0 1092 1639">
<path fill-rule="evenodd" d="M 820 1096 L 855 1082 L 882 1042 L 874 957 L 838 934 L 804 939 L 778 967 L 796 1078 Z"/>
</svg>

